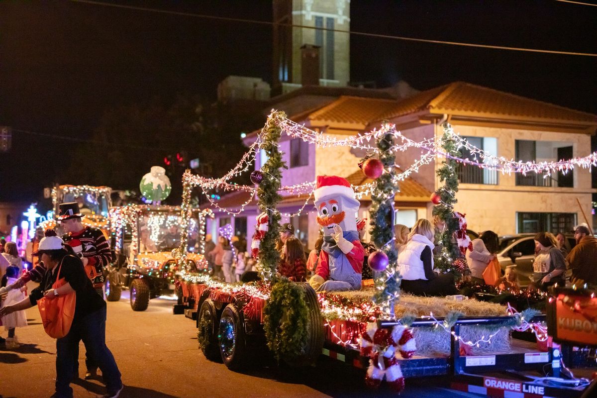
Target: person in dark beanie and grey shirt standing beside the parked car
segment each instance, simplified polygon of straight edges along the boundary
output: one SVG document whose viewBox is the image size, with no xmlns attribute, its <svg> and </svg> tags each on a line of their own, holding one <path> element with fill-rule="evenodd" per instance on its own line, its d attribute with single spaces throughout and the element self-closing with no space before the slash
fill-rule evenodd
<svg viewBox="0 0 597 398">
<path fill-rule="evenodd" d="M 533 261 L 533 282 L 541 289 L 558 283 L 565 285 L 566 263 L 558 249 L 556 237 L 549 232 L 540 232 L 534 237 L 537 255 Z"/>
</svg>

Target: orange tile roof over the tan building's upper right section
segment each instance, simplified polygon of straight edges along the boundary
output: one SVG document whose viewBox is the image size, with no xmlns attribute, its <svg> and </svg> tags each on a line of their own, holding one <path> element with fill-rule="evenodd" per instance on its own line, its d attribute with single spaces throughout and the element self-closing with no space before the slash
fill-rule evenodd
<svg viewBox="0 0 597 398">
<path fill-rule="evenodd" d="M 487 87 L 454 82 L 398 101 L 395 107 L 377 118 L 396 118 L 420 110 L 458 116 L 478 116 L 527 121 L 588 122 L 597 125 L 597 116 L 543 101 L 521 97 Z"/>
</svg>

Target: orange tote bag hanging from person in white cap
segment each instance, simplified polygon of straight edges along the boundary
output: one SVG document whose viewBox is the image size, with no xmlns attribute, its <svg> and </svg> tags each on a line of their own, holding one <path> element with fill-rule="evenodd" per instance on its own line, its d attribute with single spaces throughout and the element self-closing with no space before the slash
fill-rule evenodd
<svg viewBox="0 0 597 398">
<path fill-rule="evenodd" d="M 64 259 L 63 259 L 64 261 Z M 62 262 L 56 275 L 56 282 L 52 285 L 53 289 L 66 285 L 64 278 L 60 279 L 60 270 Z M 50 271 L 48 271 L 50 272 Z M 70 331 L 70 325 L 75 316 L 76 294 L 75 292 L 59 295 L 58 297 L 42 297 L 38 300 L 39 314 L 44 323 L 45 332 L 53 338 L 62 338 Z"/>
</svg>

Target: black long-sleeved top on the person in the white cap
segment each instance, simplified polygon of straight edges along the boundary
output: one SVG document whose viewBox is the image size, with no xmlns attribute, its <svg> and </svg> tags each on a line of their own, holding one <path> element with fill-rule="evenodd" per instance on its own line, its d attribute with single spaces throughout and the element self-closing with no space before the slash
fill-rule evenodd
<svg viewBox="0 0 597 398">
<path fill-rule="evenodd" d="M 59 271 L 60 274 L 58 274 Z M 85 315 L 106 306 L 103 298 L 97 294 L 91 285 L 91 280 L 85 274 L 81 260 L 73 255 L 65 256 L 61 266 L 59 264 L 53 270 L 45 272 L 39 286 L 29 294 L 29 300 L 33 306 L 37 304 L 40 298 L 44 297 L 45 291 L 52 289 L 52 285 L 56 282 L 56 277 L 59 277 L 59 279 L 64 278 L 66 282 L 70 283 L 70 287 L 75 289 L 75 292 L 71 293 L 76 294 L 75 317 L 73 321 L 81 319 Z"/>
</svg>

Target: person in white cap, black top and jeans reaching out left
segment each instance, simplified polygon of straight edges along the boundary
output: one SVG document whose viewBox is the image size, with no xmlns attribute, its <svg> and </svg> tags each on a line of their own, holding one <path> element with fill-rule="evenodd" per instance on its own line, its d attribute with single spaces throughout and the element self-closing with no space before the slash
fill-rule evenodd
<svg viewBox="0 0 597 398">
<path fill-rule="evenodd" d="M 72 398 L 73 357 L 78 353 L 79 342 L 84 340 L 86 347 L 93 350 L 93 357 L 106 382 L 107 394 L 104 398 L 116 398 L 123 385 L 116 361 L 106 346 L 106 303 L 93 289 L 81 260 L 65 249 L 68 247 L 54 231 L 46 232 L 35 253 L 47 267 L 41 283 L 29 297 L 2 308 L 0 315 L 26 310 L 35 306 L 42 297 L 51 300 L 61 295 L 76 294 L 75 316 L 70 331 L 56 340 L 56 393 L 52 397 Z M 63 278 L 67 283 L 53 289 L 54 282 Z"/>
</svg>

